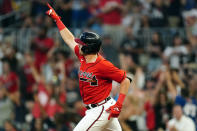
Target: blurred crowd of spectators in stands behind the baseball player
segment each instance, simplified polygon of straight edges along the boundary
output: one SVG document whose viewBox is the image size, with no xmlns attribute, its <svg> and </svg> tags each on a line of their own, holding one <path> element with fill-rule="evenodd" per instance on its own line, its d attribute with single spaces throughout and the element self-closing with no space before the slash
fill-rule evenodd
<svg viewBox="0 0 197 131">
<path fill-rule="evenodd" d="M 76 37 L 101 35 L 100 53 L 133 78 L 124 131 L 196 130 L 196 0 L 0 0 L 0 131 L 71 131 L 85 115 L 79 62 L 46 2 Z"/>
</svg>

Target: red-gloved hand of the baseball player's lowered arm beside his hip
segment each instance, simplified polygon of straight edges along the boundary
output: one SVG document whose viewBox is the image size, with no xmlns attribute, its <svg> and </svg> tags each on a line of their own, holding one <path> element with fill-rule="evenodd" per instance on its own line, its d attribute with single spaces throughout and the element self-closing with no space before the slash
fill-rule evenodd
<svg viewBox="0 0 197 131">
<path fill-rule="evenodd" d="M 109 112 L 108 120 L 110 120 L 111 117 L 118 117 L 122 109 L 122 104 L 119 102 L 116 102 L 115 105 L 109 107 L 106 111 Z"/>
</svg>

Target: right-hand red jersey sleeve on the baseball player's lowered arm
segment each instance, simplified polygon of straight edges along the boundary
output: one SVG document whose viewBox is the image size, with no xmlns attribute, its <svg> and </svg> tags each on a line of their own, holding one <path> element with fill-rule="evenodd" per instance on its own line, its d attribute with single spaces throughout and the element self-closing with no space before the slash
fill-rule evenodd
<svg viewBox="0 0 197 131">
<path fill-rule="evenodd" d="M 111 62 L 107 60 L 103 61 L 102 67 L 100 67 L 99 70 L 103 74 L 103 77 L 114 80 L 118 83 L 121 83 L 126 77 L 126 72 L 124 70 L 115 67 Z"/>
</svg>

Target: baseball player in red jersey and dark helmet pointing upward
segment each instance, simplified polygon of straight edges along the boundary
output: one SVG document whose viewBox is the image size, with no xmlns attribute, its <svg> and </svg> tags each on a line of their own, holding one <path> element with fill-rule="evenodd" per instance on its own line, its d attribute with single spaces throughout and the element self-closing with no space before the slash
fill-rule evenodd
<svg viewBox="0 0 197 131">
<path fill-rule="evenodd" d="M 126 76 L 125 71 L 118 69 L 98 53 L 101 47 L 99 35 L 84 32 L 79 39 L 75 39 L 54 9 L 49 4 L 48 7 L 46 14 L 55 20 L 63 40 L 81 63 L 79 88 L 87 111 L 74 131 L 121 131 L 117 117 L 132 80 Z M 110 97 L 112 80 L 120 83 L 117 101 Z"/>
</svg>

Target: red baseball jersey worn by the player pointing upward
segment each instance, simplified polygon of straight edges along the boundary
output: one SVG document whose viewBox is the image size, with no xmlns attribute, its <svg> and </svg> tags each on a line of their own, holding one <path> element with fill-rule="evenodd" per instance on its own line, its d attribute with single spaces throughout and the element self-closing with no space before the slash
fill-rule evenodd
<svg viewBox="0 0 197 131">
<path fill-rule="evenodd" d="M 81 66 L 78 72 L 80 93 L 85 104 L 99 103 L 107 98 L 112 89 L 112 80 L 122 82 L 126 72 L 98 54 L 94 63 L 86 63 L 84 56 L 79 54 L 79 46 L 75 46 Z"/>
</svg>

